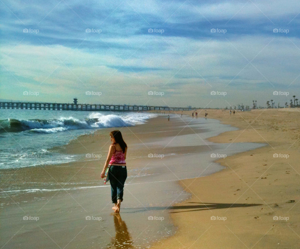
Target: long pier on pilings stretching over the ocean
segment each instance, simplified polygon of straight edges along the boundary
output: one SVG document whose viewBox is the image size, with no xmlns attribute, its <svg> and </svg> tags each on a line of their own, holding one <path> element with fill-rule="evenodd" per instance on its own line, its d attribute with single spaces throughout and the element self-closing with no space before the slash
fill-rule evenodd
<svg viewBox="0 0 300 249">
<path fill-rule="evenodd" d="M 111 111 L 138 112 L 151 110 L 188 111 L 187 107 L 138 106 L 138 105 L 104 105 L 104 104 L 74 104 L 74 103 L 39 103 L 39 102 L 0 102 L 0 109 L 29 110 L 71 110 L 71 111 Z"/>
</svg>

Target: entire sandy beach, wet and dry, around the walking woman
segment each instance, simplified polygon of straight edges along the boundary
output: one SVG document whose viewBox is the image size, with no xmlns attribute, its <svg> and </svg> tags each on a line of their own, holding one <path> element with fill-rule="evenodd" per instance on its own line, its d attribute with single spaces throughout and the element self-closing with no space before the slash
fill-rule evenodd
<svg viewBox="0 0 300 249">
<path fill-rule="evenodd" d="M 52 148 L 81 161 L 2 170 L 3 248 L 298 248 L 299 113 L 204 112 L 117 128 L 130 145 L 118 216 L 100 179 L 114 127 Z"/>
</svg>

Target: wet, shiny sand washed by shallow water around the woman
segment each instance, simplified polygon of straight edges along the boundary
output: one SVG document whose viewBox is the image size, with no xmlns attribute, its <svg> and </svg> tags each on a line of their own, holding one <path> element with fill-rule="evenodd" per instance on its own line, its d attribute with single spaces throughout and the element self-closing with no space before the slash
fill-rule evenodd
<svg viewBox="0 0 300 249">
<path fill-rule="evenodd" d="M 169 122 L 166 116 L 159 116 L 143 125 L 117 128 L 129 150 L 124 201 L 116 216 L 110 186 L 100 178 L 113 129 L 101 129 L 53 148 L 82 154 L 81 161 L 1 171 L 3 248 L 146 248 L 172 237 L 176 227 L 169 213 L 178 212 L 174 204 L 192 196 L 178 180 L 222 170 L 211 154 L 221 154 L 229 143 L 216 144 L 206 138 L 236 130 L 217 120 L 176 115 Z M 263 145 L 234 144 L 227 154 Z M 246 207 L 253 205 L 257 204 Z"/>
</svg>

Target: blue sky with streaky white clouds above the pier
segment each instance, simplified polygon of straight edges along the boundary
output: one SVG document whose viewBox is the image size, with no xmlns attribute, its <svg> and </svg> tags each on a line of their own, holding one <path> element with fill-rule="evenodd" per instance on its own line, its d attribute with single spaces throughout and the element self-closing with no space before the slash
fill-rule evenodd
<svg viewBox="0 0 300 249">
<path fill-rule="evenodd" d="M 300 97 L 299 1 L 0 6 L 0 99 L 229 108 Z"/>
</svg>

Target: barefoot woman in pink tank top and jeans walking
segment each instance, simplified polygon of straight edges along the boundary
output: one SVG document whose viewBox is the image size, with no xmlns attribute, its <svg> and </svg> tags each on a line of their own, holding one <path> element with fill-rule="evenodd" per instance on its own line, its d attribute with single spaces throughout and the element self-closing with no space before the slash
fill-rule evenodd
<svg viewBox="0 0 300 249">
<path fill-rule="evenodd" d="M 109 147 L 108 156 L 101 172 L 101 178 L 106 176 L 108 178 L 107 181 L 110 181 L 112 202 L 115 204 L 112 209 L 115 210 L 115 213 L 119 213 L 121 202 L 123 201 L 124 183 L 127 178 L 125 162 L 127 144 L 124 142 L 120 131 L 112 131 L 109 135 L 112 144 Z"/>
</svg>

